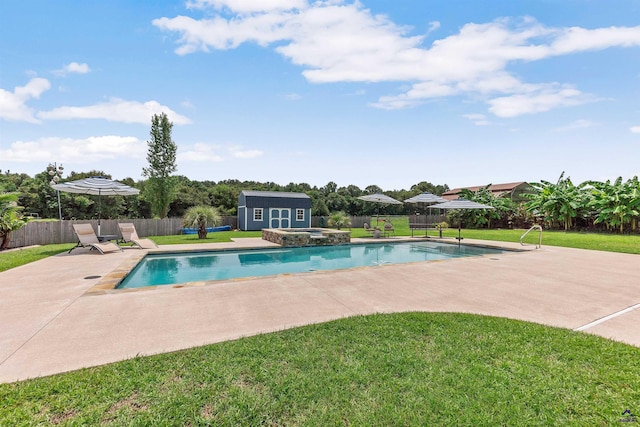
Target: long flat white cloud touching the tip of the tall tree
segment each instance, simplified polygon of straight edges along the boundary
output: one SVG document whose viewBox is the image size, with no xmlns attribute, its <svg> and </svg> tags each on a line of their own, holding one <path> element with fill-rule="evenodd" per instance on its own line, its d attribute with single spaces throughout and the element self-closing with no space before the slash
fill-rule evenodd
<svg viewBox="0 0 640 427">
<path fill-rule="evenodd" d="M 50 111 L 41 111 L 38 117 L 46 120 L 103 119 L 120 123 L 151 123 L 154 114 L 166 113 L 174 124 L 190 124 L 188 117 L 182 116 L 157 101 L 126 101 L 111 98 L 108 102 L 84 107 L 58 107 Z"/>
</svg>

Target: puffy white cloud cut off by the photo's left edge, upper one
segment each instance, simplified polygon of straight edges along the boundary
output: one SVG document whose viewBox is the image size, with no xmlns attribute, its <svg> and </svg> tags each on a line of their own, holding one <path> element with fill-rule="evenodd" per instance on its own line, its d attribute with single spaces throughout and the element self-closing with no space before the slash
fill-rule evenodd
<svg viewBox="0 0 640 427">
<path fill-rule="evenodd" d="M 32 78 L 24 86 L 9 92 L 0 88 L 0 118 L 15 122 L 40 123 L 34 117 L 33 109 L 26 105 L 30 99 L 38 99 L 43 92 L 51 88 L 49 80 L 40 77 Z"/>
</svg>

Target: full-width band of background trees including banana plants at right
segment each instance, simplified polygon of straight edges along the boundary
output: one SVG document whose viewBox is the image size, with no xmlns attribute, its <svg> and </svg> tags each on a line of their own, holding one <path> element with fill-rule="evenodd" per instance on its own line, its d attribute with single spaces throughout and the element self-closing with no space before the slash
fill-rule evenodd
<svg viewBox="0 0 640 427">
<path fill-rule="evenodd" d="M 71 172 L 64 181 L 90 176 L 110 176 L 104 171 Z M 384 191 L 376 185 L 360 188 L 356 185 L 339 187 L 330 181 L 322 187 L 307 183 L 280 185 L 274 182 L 239 181 L 235 179 L 193 181 L 184 176 L 174 176 L 175 197 L 169 203 L 166 216 L 183 217 L 193 206 L 212 206 L 221 215 L 236 215 L 238 197 L 242 190 L 301 192 L 311 198 L 314 216 L 329 216 L 344 212 L 351 216 L 426 214 L 429 206 L 422 204 L 381 205 L 359 200 L 366 194 L 384 193 L 396 200 L 406 200 L 417 194 L 429 192 L 441 195 L 449 190 L 446 184 L 435 185 L 420 182 L 408 190 Z M 102 218 L 153 218 L 151 202 L 145 187 L 149 179 L 120 180 L 141 190 L 138 196 L 103 197 Z M 624 181 L 585 181 L 575 185 L 564 173 L 556 182 L 530 183 L 531 193 L 524 200 L 512 201 L 491 193 L 488 188 L 476 192 L 463 190 L 462 197 L 493 206 L 494 210 L 469 210 L 449 212 L 448 221 L 454 224 L 461 219 L 465 227 L 473 228 L 526 228 L 539 223 L 545 229 L 573 231 L 606 231 L 617 233 L 638 232 L 640 218 L 640 182 L 637 177 Z M 487 186 L 488 187 L 488 186 Z M 0 192 L 17 193 L 17 203 L 25 216 L 37 214 L 40 218 L 58 217 L 58 199 L 49 185 L 46 170 L 30 177 L 0 171 Z M 96 215 L 97 196 L 60 193 L 64 219 L 92 219 Z"/>
</svg>

